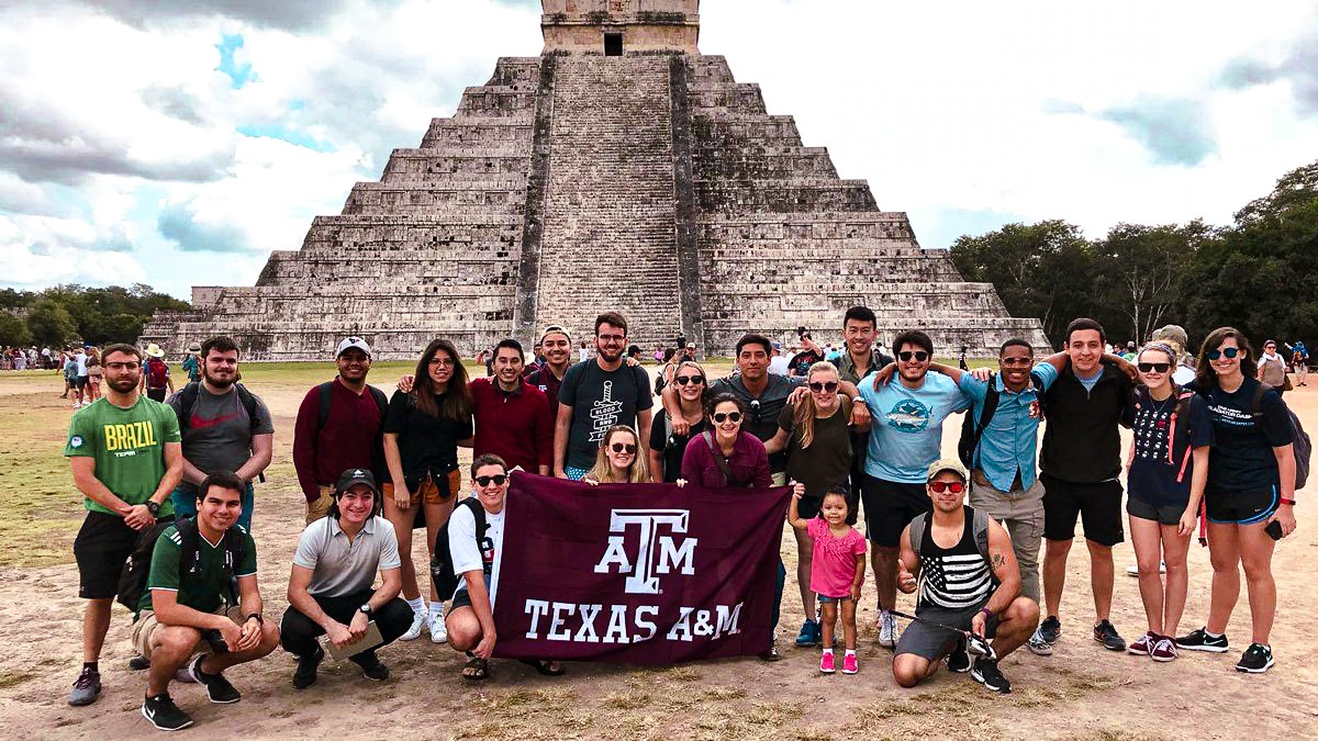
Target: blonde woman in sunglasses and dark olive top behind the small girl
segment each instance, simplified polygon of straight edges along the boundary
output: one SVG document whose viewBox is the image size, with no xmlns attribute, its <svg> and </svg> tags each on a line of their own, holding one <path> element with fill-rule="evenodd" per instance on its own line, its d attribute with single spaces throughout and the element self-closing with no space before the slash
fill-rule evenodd
<svg viewBox="0 0 1318 741">
<path fill-rule="evenodd" d="M 801 519 L 813 519 L 830 490 L 844 492 L 847 506 L 847 525 L 855 525 L 859 502 L 847 490 L 851 473 L 851 400 L 838 393 L 837 368 L 828 361 L 811 365 L 805 374 L 809 394 L 786 406 L 778 415 L 778 434 L 764 443 L 770 452 L 787 451 L 787 476 L 805 487 L 799 502 Z M 811 568 L 815 539 L 804 527 L 792 529 L 796 535 L 796 583 L 801 592 L 805 622 L 796 636 L 797 646 L 817 646 L 822 638 L 820 622 L 815 618 L 815 592 L 811 591 Z M 829 646 L 829 649 L 832 649 Z"/>
</svg>

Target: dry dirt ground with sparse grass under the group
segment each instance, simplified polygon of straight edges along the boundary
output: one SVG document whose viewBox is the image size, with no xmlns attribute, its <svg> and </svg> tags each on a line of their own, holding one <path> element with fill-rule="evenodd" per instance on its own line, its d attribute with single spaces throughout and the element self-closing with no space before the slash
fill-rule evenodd
<svg viewBox="0 0 1318 741">
<path fill-rule="evenodd" d="M 391 385 L 398 367 L 372 380 Z M 297 535 L 303 526 L 302 496 L 290 463 L 293 418 L 306 389 L 328 378 L 327 365 L 245 369 L 249 385 L 275 415 L 274 464 L 257 489 L 254 535 L 268 618 L 286 607 L 285 588 Z M 718 374 L 717 372 L 714 374 Z M 82 518 L 80 497 L 61 456 L 71 414 L 58 398 L 54 374 L 0 374 L 0 488 L 12 506 L 0 516 L 0 719 L 7 736 L 144 737 L 156 733 L 141 717 L 145 676 L 127 661 L 129 616 L 116 607 L 101 655 L 104 692 L 87 708 L 66 699 L 80 662 L 82 604 L 72 564 L 72 535 Z M 1288 396 L 1310 432 L 1318 431 L 1318 388 Z M 956 447 L 958 421 L 945 431 Z M 1313 487 L 1310 487 L 1311 489 Z M 1275 556 L 1278 614 L 1272 634 L 1277 666 L 1261 676 L 1234 670 L 1248 643 L 1247 599 L 1232 617 L 1232 651 L 1186 653 L 1156 665 L 1147 658 L 1104 651 L 1089 637 L 1093 603 L 1089 558 L 1075 547 L 1062 603 L 1064 636 L 1052 657 L 1019 651 L 1002 663 L 1014 692 L 998 696 L 967 675 L 940 672 L 916 690 L 892 682 L 891 654 L 875 646 L 874 597 L 861 609 L 861 672 L 820 675 L 816 650 L 796 649 L 803 620 L 788 580 L 779 646 L 784 661 L 730 659 L 641 670 L 626 666 L 568 665 L 563 678 L 492 662 L 482 684 L 459 678 L 460 657 L 428 639 L 394 643 L 381 651 L 393 670 L 385 683 L 361 678 L 351 663 L 327 662 L 320 680 L 295 691 L 293 659 L 282 650 L 228 672 L 243 691 L 235 705 L 212 705 L 204 692 L 174 684 L 171 692 L 196 720 L 194 737 L 328 736 L 497 737 L 497 738 L 1281 738 L 1318 737 L 1318 643 L 1307 642 L 1305 622 L 1318 608 L 1310 584 L 1318 559 L 1318 516 L 1300 496 L 1298 531 Z M 423 541 L 416 563 L 424 563 Z M 795 546 L 784 535 L 783 558 L 795 572 Z M 1127 639 L 1144 630 L 1128 543 L 1116 548 L 1118 581 L 1112 620 Z M 1190 551 L 1190 596 L 1182 633 L 1203 624 L 1209 603 L 1207 550 Z M 869 587 L 867 587 L 869 589 Z M 911 597 L 899 599 L 911 610 Z"/>
</svg>

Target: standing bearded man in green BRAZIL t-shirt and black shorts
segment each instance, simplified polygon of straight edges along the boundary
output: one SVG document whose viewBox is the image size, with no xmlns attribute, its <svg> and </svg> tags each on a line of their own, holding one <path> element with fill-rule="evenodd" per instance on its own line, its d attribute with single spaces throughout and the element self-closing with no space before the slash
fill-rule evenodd
<svg viewBox="0 0 1318 741">
<path fill-rule="evenodd" d="M 83 667 L 70 705 L 100 695 L 100 650 L 124 562 L 141 533 L 174 518 L 169 494 L 183 476 L 178 418 L 141 393 L 142 353 L 112 344 L 101 353 L 105 396 L 69 422 L 65 458 L 87 518 L 74 539 L 83 614 Z M 130 455 L 124 455 L 130 454 Z"/>
</svg>

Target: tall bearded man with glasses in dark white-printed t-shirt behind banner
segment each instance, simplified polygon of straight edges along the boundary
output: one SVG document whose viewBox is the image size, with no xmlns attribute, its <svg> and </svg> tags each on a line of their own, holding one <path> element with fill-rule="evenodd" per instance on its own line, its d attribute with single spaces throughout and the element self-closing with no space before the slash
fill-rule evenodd
<svg viewBox="0 0 1318 741">
<path fill-rule="evenodd" d="M 650 373 L 627 364 L 627 320 L 616 311 L 594 319 L 596 357 L 563 374 L 554 429 L 554 475 L 580 481 L 594 465 L 604 434 L 616 425 L 637 431 L 637 452 L 650 455 L 654 396 Z"/>
</svg>

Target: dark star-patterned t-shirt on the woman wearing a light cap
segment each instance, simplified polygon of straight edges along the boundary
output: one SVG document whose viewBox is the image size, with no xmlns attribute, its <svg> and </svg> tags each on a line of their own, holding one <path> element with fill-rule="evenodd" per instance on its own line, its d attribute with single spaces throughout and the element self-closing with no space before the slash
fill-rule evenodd
<svg viewBox="0 0 1318 741">
<path fill-rule="evenodd" d="M 1135 432 L 1135 452 L 1126 472 L 1131 498 L 1153 506 L 1189 504 L 1194 476 L 1190 452 L 1213 444 L 1213 423 L 1203 397 L 1190 396 L 1185 417 L 1174 414 L 1178 406 L 1176 397 L 1155 401 L 1145 388 L 1126 406 L 1126 422 Z"/>
</svg>

